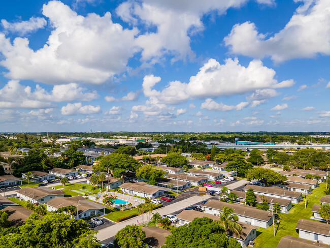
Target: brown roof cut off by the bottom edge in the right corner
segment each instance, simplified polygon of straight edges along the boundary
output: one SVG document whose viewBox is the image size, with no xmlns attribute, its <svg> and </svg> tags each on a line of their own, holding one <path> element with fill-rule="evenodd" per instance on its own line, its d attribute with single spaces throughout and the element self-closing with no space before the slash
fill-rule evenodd
<svg viewBox="0 0 330 248">
<path fill-rule="evenodd" d="M 293 236 L 284 236 L 281 238 L 277 248 L 329 248 L 327 244 L 318 243 L 315 241 L 297 238 Z"/>
</svg>

